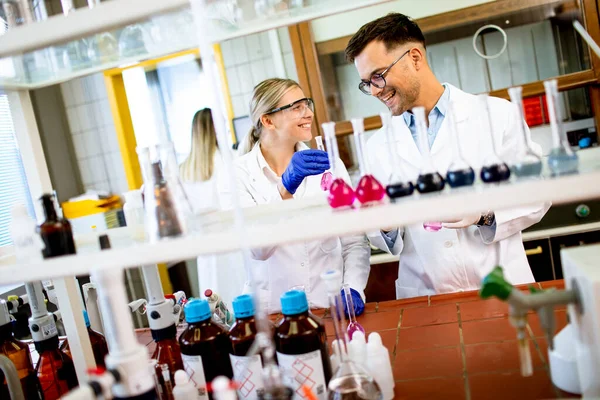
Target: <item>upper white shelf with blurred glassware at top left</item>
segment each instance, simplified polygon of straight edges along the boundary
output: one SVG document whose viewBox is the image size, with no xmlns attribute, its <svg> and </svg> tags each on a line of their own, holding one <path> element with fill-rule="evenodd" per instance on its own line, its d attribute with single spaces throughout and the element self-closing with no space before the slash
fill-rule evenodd
<svg viewBox="0 0 600 400">
<path fill-rule="evenodd" d="M 0 35 L 0 88 L 35 89 L 198 46 L 192 10 L 219 43 L 390 0 L 112 0 Z M 197 5 L 197 6 L 196 6 Z M 203 7 L 203 8 L 202 8 Z M 198 19 L 200 20 L 200 19 Z"/>
</svg>

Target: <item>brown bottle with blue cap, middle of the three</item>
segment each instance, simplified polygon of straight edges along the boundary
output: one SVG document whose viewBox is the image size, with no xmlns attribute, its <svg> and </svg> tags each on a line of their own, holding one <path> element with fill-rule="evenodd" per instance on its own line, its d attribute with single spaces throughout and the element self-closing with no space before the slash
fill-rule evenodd
<svg viewBox="0 0 600 400">
<path fill-rule="evenodd" d="M 254 319 L 254 302 L 252 296 L 243 294 L 233 299 L 233 313 L 235 322 L 229 330 L 231 341 L 231 366 L 233 380 L 240 382 L 238 395 L 241 399 L 257 399 L 262 392 L 262 361 L 260 354 L 247 356 L 250 347 L 256 338 L 256 321 Z M 249 381 L 246 377 L 250 376 Z"/>
</svg>

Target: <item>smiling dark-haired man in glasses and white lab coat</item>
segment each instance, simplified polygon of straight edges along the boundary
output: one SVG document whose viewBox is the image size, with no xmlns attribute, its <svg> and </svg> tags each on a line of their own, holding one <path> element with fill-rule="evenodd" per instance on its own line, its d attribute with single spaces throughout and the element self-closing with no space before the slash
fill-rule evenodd
<svg viewBox="0 0 600 400">
<path fill-rule="evenodd" d="M 464 158 L 476 171 L 481 168 L 489 135 L 483 130 L 478 99 L 436 79 L 427 62 L 423 33 L 410 18 L 392 13 L 364 25 L 350 39 L 346 57 L 358 70 L 359 89 L 381 100 L 393 115 L 395 143 L 388 143 L 382 130 L 367 143 L 377 179 L 387 183 L 392 172 L 388 146 L 400 155 L 406 178 L 414 182 L 418 177 L 422 159 L 410 111 L 416 106 L 425 108 L 433 163 L 442 175 L 453 158 L 450 110 Z M 518 153 L 521 121 L 510 102 L 492 97 L 488 104 L 497 153 L 510 165 Z M 418 224 L 373 232 L 369 239 L 374 246 L 400 255 L 397 298 L 477 289 L 495 265 L 505 269 L 513 284 L 533 282 L 521 230 L 537 223 L 549 207 L 548 203 L 473 210 L 464 218 L 443 221 L 445 229 L 439 232 L 427 232 Z"/>
</svg>

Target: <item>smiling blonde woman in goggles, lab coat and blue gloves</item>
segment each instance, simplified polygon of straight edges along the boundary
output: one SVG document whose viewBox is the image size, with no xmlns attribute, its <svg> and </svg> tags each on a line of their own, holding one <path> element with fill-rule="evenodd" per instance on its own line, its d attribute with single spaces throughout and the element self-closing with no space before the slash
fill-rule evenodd
<svg viewBox="0 0 600 400">
<path fill-rule="evenodd" d="M 312 138 L 313 108 L 312 100 L 292 80 L 267 79 L 254 88 L 250 104 L 253 127 L 235 162 L 242 207 L 323 195 L 320 182 L 329 168 L 327 154 L 303 143 Z M 342 162 L 338 160 L 338 164 L 337 170 L 349 181 Z M 230 197 L 226 185 L 221 194 L 223 199 Z M 304 288 L 312 307 L 327 307 L 320 275 L 332 268 L 342 272 L 358 303 L 355 309 L 361 312 L 369 258 L 366 237 L 358 235 L 254 249 L 247 265 L 252 268 L 254 289 L 270 312 L 279 311 L 280 296 L 298 286 Z M 245 290 L 252 290 L 250 282 Z"/>
</svg>

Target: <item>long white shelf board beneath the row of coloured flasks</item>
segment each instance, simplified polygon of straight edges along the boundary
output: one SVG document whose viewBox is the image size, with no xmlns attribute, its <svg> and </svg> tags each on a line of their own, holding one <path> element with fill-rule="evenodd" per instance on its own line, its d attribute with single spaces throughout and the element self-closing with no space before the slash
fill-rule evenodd
<svg viewBox="0 0 600 400">
<path fill-rule="evenodd" d="M 89 273 L 94 268 L 118 269 L 172 262 L 201 255 L 290 244 L 376 231 L 390 226 L 420 224 L 551 201 L 554 204 L 600 197 L 600 148 L 580 151 L 578 174 L 476 184 L 429 195 L 414 194 L 395 203 L 367 208 L 332 210 L 325 195 L 257 206 L 244 210 L 242 238 L 231 212 L 213 212 L 192 221 L 192 233 L 158 243 L 134 244 L 127 228 L 109 230 L 113 249 L 100 252 L 95 236 L 78 237 L 79 253 L 33 265 L 17 265 L 10 256 L 0 259 L 3 284 Z"/>
</svg>

